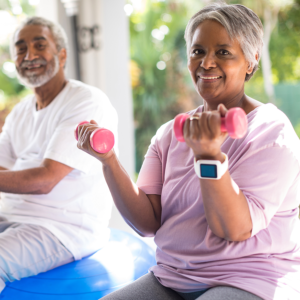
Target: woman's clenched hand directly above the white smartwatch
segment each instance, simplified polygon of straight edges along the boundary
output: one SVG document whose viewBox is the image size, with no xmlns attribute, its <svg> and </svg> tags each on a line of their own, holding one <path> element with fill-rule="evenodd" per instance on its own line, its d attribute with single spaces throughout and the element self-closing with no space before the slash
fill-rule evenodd
<svg viewBox="0 0 300 300">
<path fill-rule="evenodd" d="M 221 132 L 221 117 L 226 113 L 226 107 L 219 104 L 215 111 L 197 113 L 186 119 L 183 128 L 184 139 L 192 148 L 196 160 L 223 158 L 221 145 L 227 137 L 227 132 Z"/>
</svg>

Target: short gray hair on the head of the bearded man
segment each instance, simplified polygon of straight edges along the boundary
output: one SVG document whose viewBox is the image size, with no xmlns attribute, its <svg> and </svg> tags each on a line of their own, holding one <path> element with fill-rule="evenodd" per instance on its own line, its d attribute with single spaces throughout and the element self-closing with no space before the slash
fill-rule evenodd
<svg viewBox="0 0 300 300">
<path fill-rule="evenodd" d="M 53 35 L 53 39 L 54 39 L 57 51 L 59 52 L 61 49 L 65 48 L 68 53 L 68 38 L 67 38 L 65 31 L 59 24 L 54 23 L 54 22 L 47 20 L 45 18 L 42 18 L 42 17 L 30 17 L 30 18 L 26 19 L 24 22 L 22 22 L 20 24 L 20 26 L 18 26 L 18 28 L 15 30 L 14 34 L 12 35 L 12 42 L 10 44 L 11 56 L 13 54 L 13 47 L 14 47 L 13 40 L 14 40 L 16 32 L 28 25 L 39 25 L 39 26 L 48 27 L 50 32 Z"/>
</svg>

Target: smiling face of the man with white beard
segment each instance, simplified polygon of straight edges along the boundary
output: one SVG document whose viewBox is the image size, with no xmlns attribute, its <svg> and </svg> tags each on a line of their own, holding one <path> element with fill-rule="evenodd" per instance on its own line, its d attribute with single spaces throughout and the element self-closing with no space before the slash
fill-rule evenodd
<svg viewBox="0 0 300 300">
<path fill-rule="evenodd" d="M 48 27 L 28 25 L 14 37 L 14 61 L 19 80 L 32 88 L 52 79 L 63 67 Z"/>
</svg>

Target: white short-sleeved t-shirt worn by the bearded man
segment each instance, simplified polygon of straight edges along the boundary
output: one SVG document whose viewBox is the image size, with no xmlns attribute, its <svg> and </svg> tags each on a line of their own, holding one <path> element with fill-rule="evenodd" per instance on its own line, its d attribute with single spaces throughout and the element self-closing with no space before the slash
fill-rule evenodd
<svg viewBox="0 0 300 300">
<path fill-rule="evenodd" d="M 117 141 L 117 113 L 107 96 L 70 80 L 41 110 L 36 110 L 34 95 L 18 103 L 0 134 L 0 166 L 4 168 L 36 168 L 44 159 L 74 168 L 48 194 L 2 193 L 0 215 L 47 228 L 76 260 L 101 248 L 109 236 L 112 198 L 102 164 L 79 150 L 74 137 L 77 124 L 91 119 L 111 130 Z"/>
</svg>

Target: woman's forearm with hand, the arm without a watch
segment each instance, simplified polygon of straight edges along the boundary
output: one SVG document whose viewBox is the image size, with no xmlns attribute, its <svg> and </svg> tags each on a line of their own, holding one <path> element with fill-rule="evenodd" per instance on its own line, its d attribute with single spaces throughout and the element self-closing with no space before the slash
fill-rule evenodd
<svg viewBox="0 0 300 300">
<path fill-rule="evenodd" d="M 115 205 L 127 224 L 142 236 L 154 236 L 160 227 L 160 195 L 146 195 L 140 190 L 122 167 L 114 149 L 99 153 L 91 147 L 90 136 L 98 128 L 94 120 L 78 126 L 77 147 L 101 161 Z"/>
</svg>

